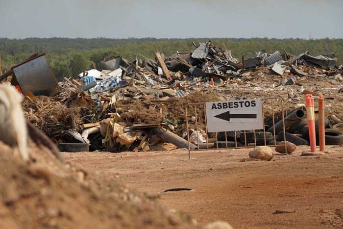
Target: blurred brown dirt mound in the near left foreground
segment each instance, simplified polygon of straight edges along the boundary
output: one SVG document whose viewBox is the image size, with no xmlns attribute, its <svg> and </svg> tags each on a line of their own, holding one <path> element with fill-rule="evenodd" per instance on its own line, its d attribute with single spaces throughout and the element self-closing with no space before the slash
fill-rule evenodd
<svg viewBox="0 0 343 229">
<path fill-rule="evenodd" d="M 62 162 L 31 144 L 30 160 L 0 142 L 0 229 L 200 229 L 186 214 L 119 179 Z"/>
</svg>

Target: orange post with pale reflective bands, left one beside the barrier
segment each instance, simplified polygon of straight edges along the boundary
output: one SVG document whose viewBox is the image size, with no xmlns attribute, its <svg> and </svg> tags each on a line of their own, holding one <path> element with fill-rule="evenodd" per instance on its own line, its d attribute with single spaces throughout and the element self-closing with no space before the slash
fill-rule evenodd
<svg viewBox="0 0 343 229">
<path fill-rule="evenodd" d="M 306 95 L 306 111 L 309 124 L 311 153 L 316 153 L 315 102 L 311 94 Z"/>
</svg>

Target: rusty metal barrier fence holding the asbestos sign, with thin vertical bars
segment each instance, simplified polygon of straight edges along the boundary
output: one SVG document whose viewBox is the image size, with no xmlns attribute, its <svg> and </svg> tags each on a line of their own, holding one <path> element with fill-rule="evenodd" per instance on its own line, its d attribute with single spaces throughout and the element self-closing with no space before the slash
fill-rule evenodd
<svg viewBox="0 0 343 229">
<path fill-rule="evenodd" d="M 282 98 L 280 97 L 273 97 L 273 98 L 263 98 L 261 99 L 262 100 L 262 118 L 263 118 L 263 135 L 264 135 L 264 146 L 270 146 L 270 147 L 276 147 L 276 146 L 281 146 L 281 145 L 277 145 L 276 143 L 276 132 L 275 132 L 275 125 L 277 124 L 278 125 L 278 129 L 282 128 L 283 130 L 283 140 L 284 140 L 284 147 L 285 147 L 285 152 L 287 153 L 287 147 L 286 147 L 286 131 L 285 131 L 285 118 L 287 119 L 287 114 L 286 114 L 286 117 L 285 117 L 285 112 L 284 112 L 284 104 L 283 104 L 283 100 Z M 271 102 L 271 116 L 272 116 L 272 136 L 273 136 L 273 143 L 274 144 L 271 144 L 270 145 L 270 142 L 267 142 L 266 140 L 266 132 L 268 132 L 266 130 L 266 126 L 265 126 L 265 113 L 264 113 L 264 105 L 266 103 L 266 101 L 270 101 Z M 274 111 L 274 102 L 280 102 L 280 105 L 281 105 L 281 116 L 282 116 L 282 120 L 280 120 L 278 123 L 275 123 L 275 111 Z M 195 126 L 196 126 L 196 138 L 197 138 L 197 141 L 195 144 L 196 145 L 196 149 L 191 149 L 190 147 L 190 135 L 189 135 L 189 125 L 188 125 L 188 109 L 187 109 L 187 106 L 190 106 L 190 107 L 194 107 L 194 113 L 195 113 Z M 214 144 L 210 144 L 208 142 L 209 140 L 209 137 L 208 137 L 208 129 L 207 129 L 207 114 L 206 114 L 206 102 L 196 102 L 196 103 L 188 103 L 188 105 L 186 106 L 185 108 L 185 111 L 186 111 L 186 126 L 187 126 L 187 141 L 188 141 L 188 158 L 190 159 L 191 158 L 191 151 L 209 151 L 209 150 L 216 150 L 216 149 L 243 149 L 243 148 L 254 148 L 256 147 L 257 145 L 261 145 L 261 144 L 257 144 L 257 141 L 256 141 L 256 130 L 252 130 L 253 131 L 253 135 L 254 135 L 254 145 L 253 146 L 249 146 L 249 143 L 247 142 L 247 139 L 246 139 L 246 134 L 249 130 L 243 130 L 244 131 L 244 146 L 238 146 L 238 143 L 237 142 L 237 131 L 240 131 L 240 130 L 235 130 L 234 131 L 234 139 L 235 139 L 235 144 L 234 144 L 234 147 L 229 147 L 228 146 L 228 141 L 227 141 L 227 131 L 225 131 L 225 147 L 219 147 L 219 143 L 218 143 L 218 132 L 215 132 L 216 134 L 216 142 Z M 197 109 L 198 108 L 198 109 Z M 205 129 L 206 129 L 206 143 L 199 143 L 199 131 L 198 131 L 198 115 L 197 115 L 197 111 L 199 111 L 200 109 L 203 109 L 204 110 L 204 122 L 205 122 Z M 281 122 L 282 121 L 282 122 Z M 281 126 L 280 126 L 281 125 Z M 271 127 L 270 127 L 271 128 Z M 270 130 L 269 128 L 269 130 Z M 262 132 L 262 131 L 261 131 Z M 250 131 L 251 133 L 251 131 Z M 213 143 L 213 142 L 212 142 Z M 231 143 L 231 142 L 230 142 Z M 267 145 L 269 144 L 269 145 Z M 211 146 L 210 146 L 211 145 Z M 222 144 L 221 144 L 222 145 Z M 215 148 L 213 148 L 215 147 Z"/>
</svg>

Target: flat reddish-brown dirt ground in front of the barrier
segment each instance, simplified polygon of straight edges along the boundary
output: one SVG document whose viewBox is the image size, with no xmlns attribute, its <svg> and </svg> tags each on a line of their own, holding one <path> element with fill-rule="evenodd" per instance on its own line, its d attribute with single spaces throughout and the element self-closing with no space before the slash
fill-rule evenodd
<svg viewBox="0 0 343 229">
<path fill-rule="evenodd" d="M 250 160 L 249 150 L 169 153 L 63 153 L 101 176 L 159 196 L 167 207 L 204 225 L 215 220 L 243 228 L 343 228 L 343 147 L 322 156 L 275 153 Z M 193 191 L 168 192 L 169 188 Z"/>
</svg>

